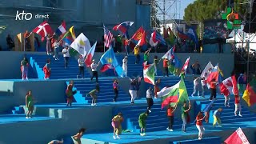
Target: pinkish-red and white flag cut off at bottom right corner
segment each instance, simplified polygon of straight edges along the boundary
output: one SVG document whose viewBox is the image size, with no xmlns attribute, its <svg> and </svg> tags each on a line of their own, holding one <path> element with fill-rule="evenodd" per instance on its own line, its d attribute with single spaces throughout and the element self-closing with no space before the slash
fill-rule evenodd
<svg viewBox="0 0 256 144">
<path fill-rule="evenodd" d="M 226 138 L 224 141 L 226 144 L 250 144 L 246 135 L 242 132 L 242 129 L 239 127 L 238 130 L 235 130 L 229 138 Z"/>
</svg>

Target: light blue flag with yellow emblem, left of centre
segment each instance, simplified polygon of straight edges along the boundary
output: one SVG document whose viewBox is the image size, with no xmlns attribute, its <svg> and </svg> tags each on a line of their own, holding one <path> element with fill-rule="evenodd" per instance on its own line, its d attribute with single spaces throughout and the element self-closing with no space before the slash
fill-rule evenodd
<svg viewBox="0 0 256 144">
<path fill-rule="evenodd" d="M 107 67 L 113 68 L 119 76 L 122 76 L 122 66 L 119 66 L 118 60 L 115 57 L 114 50 L 111 46 L 110 49 L 106 50 L 105 54 L 102 55 L 102 57 L 100 58 L 100 62 L 102 62 L 103 66 L 107 64 L 110 65 Z"/>
</svg>

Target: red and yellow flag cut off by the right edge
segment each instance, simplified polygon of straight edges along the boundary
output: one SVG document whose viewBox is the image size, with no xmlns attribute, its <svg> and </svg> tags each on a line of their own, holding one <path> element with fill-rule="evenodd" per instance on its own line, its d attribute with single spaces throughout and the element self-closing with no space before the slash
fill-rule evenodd
<svg viewBox="0 0 256 144">
<path fill-rule="evenodd" d="M 246 90 L 242 95 L 242 98 L 247 102 L 248 106 L 253 106 L 256 103 L 256 79 L 253 78 L 250 83 L 247 84 Z"/>
</svg>

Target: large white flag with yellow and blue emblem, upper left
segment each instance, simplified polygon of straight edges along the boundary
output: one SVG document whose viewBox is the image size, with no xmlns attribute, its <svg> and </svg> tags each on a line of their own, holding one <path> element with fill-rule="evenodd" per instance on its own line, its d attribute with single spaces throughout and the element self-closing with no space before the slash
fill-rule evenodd
<svg viewBox="0 0 256 144">
<path fill-rule="evenodd" d="M 78 35 L 78 38 L 75 38 L 74 42 L 71 43 L 70 47 L 77 50 L 78 53 L 82 55 L 82 58 L 85 58 L 86 54 L 90 50 L 90 41 L 81 33 Z"/>
</svg>

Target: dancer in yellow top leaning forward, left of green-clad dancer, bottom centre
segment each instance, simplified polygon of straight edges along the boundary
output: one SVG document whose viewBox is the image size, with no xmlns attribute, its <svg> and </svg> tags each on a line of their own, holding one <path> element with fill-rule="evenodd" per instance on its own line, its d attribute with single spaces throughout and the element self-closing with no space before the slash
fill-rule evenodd
<svg viewBox="0 0 256 144">
<path fill-rule="evenodd" d="M 120 139 L 118 135 L 121 134 L 122 132 L 121 122 L 123 122 L 122 113 L 118 113 L 118 115 L 114 116 L 111 122 L 111 125 L 114 128 L 114 135 L 113 135 L 114 139 L 116 139 L 115 134 L 117 135 L 117 138 Z"/>
</svg>

